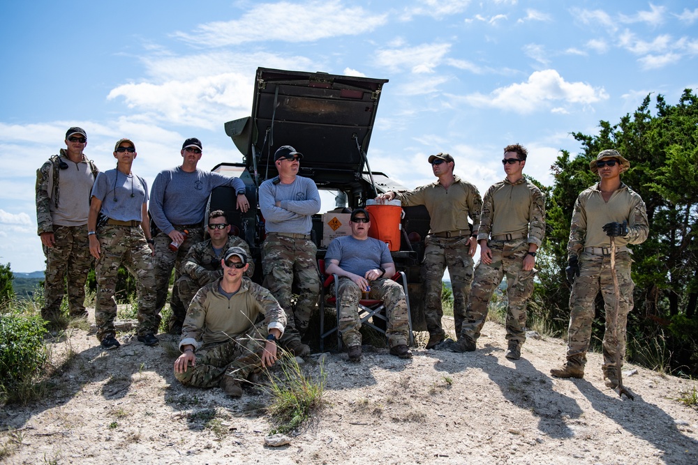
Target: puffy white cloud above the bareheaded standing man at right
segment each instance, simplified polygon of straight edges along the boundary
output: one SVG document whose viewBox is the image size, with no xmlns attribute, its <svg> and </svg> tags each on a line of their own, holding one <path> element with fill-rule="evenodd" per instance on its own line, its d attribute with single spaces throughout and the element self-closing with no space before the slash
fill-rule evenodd
<svg viewBox="0 0 698 465">
<path fill-rule="evenodd" d="M 472 93 L 463 100 L 475 107 L 511 109 L 528 114 L 547 109 L 553 102 L 590 105 L 608 98 L 603 88 L 594 88 L 584 82 L 566 82 L 556 70 L 543 70 L 531 74 L 527 82 L 495 89 L 487 96 Z M 560 112 L 559 108 L 556 112 Z"/>
</svg>

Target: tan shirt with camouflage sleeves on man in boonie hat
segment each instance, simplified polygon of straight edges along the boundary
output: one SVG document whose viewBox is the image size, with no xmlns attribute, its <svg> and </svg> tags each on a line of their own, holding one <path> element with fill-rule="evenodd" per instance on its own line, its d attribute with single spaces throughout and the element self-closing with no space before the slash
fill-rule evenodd
<svg viewBox="0 0 698 465">
<path fill-rule="evenodd" d="M 616 246 L 643 243 L 649 233 L 647 211 L 642 198 L 625 183 L 605 201 L 596 183 L 579 194 L 574 202 L 567 256 L 578 257 L 584 247 L 609 247 L 611 239 L 603 225 L 628 222 L 628 234 L 615 238 Z"/>
</svg>

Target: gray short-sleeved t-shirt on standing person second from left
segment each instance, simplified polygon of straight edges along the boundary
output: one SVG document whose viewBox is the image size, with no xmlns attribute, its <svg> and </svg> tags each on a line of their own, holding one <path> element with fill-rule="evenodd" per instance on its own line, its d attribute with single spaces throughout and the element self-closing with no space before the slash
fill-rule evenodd
<svg viewBox="0 0 698 465">
<path fill-rule="evenodd" d="M 102 214 L 118 221 L 142 221 L 143 204 L 148 202 L 148 185 L 133 173 L 118 169 L 101 171 L 92 186 L 91 197 L 102 202 Z"/>
</svg>

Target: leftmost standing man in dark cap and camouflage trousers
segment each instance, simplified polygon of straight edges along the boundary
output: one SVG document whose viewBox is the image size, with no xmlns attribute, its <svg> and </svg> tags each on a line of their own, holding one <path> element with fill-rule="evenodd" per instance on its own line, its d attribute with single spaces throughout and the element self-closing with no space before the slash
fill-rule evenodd
<svg viewBox="0 0 698 465">
<path fill-rule="evenodd" d="M 41 316 L 62 326 L 61 302 L 68 287 L 70 317 L 87 317 L 84 284 L 92 266 L 87 242 L 89 193 L 99 169 L 84 155 L 87 133 L 66 131 L 66 148 L 36 170 L 36 223 L 46 256 Z M 73 169 L 69 169 L 73 167 Z"/>
</svg>

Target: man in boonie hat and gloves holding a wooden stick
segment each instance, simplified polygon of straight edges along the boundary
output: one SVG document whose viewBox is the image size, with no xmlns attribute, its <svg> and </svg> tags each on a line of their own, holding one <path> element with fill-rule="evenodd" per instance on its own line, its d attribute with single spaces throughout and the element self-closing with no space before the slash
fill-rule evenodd
<svg viewBox="0 0 698 465">
<path fill-rule="evenodd" d="M 581 192 L 574 203 L 570 242 L 567 244 L 567 280 L 572 282 L 570 294 L 570 327 L 567 331 L 567 361 L 560 368 L 551 369 L 560 378 L 583 378 L 586 353 L 591 340 L 594 319 L 594 301 L 601 291 L 606 309 L 606 333 L 603 340 L 604 364 L 602 372 L 609 388 L 618 387 L 616 360 L 625 356 L 625 325 L 632 310 L 630 279 L 632 253 L 630 244 L 643 243 L 649 232 L 644 201 L 621 181 L 621 173 L 630 168 L 630 162 L 620 152 L 601 151 L 589 164 L 600 182 Z M 611 240 L 615 243 L 615 268 L 618 279 L 618 327 L 610 312 L 616 304 L 616 289 L 611 275 Z M 614 340 L 618 335 L 618 341 Z M 622 353 L 616 353 L 616 346 Z"/>
</svg>

